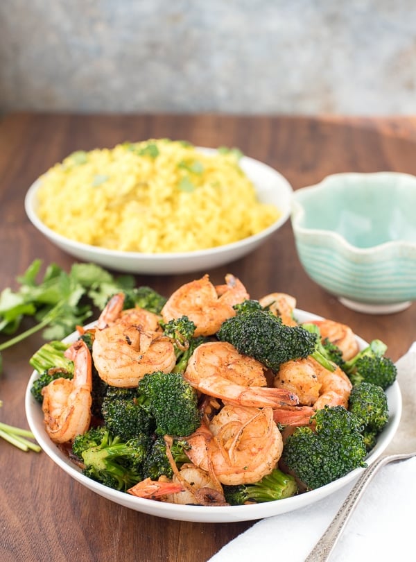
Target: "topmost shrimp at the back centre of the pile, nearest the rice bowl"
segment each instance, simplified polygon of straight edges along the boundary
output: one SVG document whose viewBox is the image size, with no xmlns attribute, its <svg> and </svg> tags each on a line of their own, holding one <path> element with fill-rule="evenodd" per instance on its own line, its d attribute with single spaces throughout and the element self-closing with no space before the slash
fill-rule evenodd
<svg viewBox="0 0 416 562">
<path fill-rule="evenodd" d="M 221 324 L 236 315 L 233 306 L 249 297 L 245 287 L 234 275 L 226 275 L 223 285 L 214 285 L 209 275 L 177 289 L 162 308 L 164 322 L 188 316 L 196 325 L 194 336 L 210 336 Z"/>
</svg>

